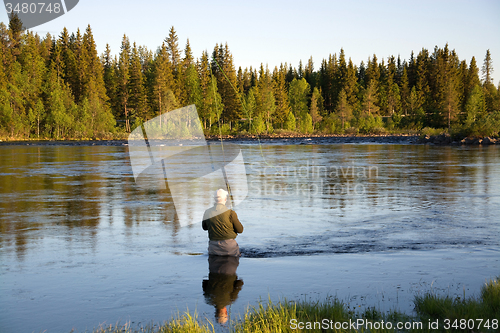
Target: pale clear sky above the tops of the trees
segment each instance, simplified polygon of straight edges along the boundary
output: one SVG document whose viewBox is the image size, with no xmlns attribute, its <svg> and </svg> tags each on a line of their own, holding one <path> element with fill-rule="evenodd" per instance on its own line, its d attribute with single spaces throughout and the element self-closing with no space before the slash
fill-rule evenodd
<svg viewBox="0 0 500 333">
<path fill-rule="evenodd" d="M 6 11 L 0 20 L 7 24 Z M 489 49 L 494 83 L 500 82 L 498 0 L 80 0 L 64 16 L 31 30 L 59 36 L 64 27 L 83 32 L 89 24 L 99 54 L 106 44 L 118 54 L 124 34 L 156 51 L 173 26 L 179 47 L 189 38 L 195 58 L 227 43 L 236 68 L 262 63 L 271 70 L 285 62 L 298 67 L 310 57 L 318 70 L 341 48 L 359 65 L 373 54 L 386 63 L 392 55 L 408 60 L 412 51 L 432 53 L 448 43 L 460 60 L 469 64 L 476 57 L 479 69 Z"/>
</svg>

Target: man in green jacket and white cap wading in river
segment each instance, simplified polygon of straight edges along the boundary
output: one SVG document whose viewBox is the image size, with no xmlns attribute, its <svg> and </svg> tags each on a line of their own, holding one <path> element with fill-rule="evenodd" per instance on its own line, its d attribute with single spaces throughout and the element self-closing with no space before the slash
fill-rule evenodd
<svg viewBox="0 0 500 333">
<path fill-rule="evenodd" d="M 236 212 L 226 207 L 228 192 L 219 189 L 215 192 L 215 204 L 203 215 L 203 230 L 208 230 L 208 254 L 216 256 L 239 257 L 240 248 L 236 236 L 243 232 L 243 225 Z"/>
</svg>

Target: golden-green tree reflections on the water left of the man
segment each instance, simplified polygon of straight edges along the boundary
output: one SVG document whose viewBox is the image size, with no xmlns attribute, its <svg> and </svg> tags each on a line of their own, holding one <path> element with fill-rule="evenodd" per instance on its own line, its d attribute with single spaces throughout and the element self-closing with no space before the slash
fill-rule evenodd
<svg viewBox="0 0 500 333">
<path fill-rule="evenodd" d="M 104 221 L 127 230 L 163 222 L 174 235 L 179 228 L 170 194 L 138 189 L 121 147 L 2 148 L 0 247 L 20 257 L 49 233 L 69 242 L 84 236 L 93 247 Z"/>
</svg>

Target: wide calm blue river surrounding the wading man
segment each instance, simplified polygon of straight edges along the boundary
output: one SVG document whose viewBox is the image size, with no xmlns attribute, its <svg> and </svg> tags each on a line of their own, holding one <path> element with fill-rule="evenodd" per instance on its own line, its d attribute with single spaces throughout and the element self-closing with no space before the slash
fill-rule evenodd
<svg viewBox="0 0 500 333">
<path fill-rule="evenodd" d="M 298 141 L 239 143 L 248 193 L 234 207 L 245 230 L 231 318 L 269 298 L 411 314 L 415 295 L 478 295 L 500 274 L 498 146 Z M 180 223 L 173 190 L 139 187 L 128 150 L 0 146 L 1 332 L 187 310 L 214 321 L 201 216 Z M 212 192 L 195 194 L 190 207 L 211 205 Z"/>
</svg>

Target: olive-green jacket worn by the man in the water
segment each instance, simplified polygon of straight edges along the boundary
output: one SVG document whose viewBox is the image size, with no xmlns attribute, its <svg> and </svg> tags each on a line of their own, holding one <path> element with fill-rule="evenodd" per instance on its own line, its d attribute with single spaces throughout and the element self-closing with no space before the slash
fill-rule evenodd
<svg viewBox="0 0 500 333">
<path fill-rule="evenodd" d="M 214 241 L 235 239 L 243 232 L 236 212 L 219 203 L 205 211 L 202 228 L 208 230 L 208 238 Z"/>
</svg>

